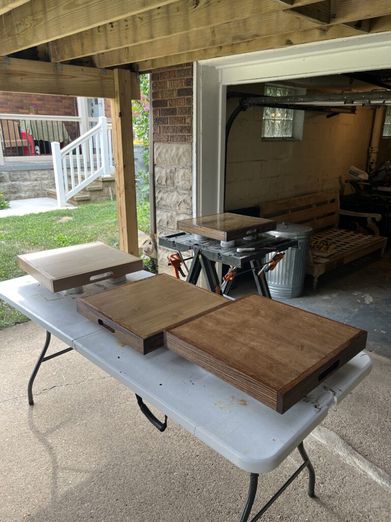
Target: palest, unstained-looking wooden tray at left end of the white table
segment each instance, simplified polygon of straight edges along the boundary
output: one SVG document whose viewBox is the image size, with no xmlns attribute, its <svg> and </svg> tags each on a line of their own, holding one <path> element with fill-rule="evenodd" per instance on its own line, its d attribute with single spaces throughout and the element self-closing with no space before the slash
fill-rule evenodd
<svg viewBox="0 0 391 522">
<path fill-rule="evenodd" d="M 19 266 L 52 292 L 142 270 L 142 260 L 104 243 L 54 248 L 18 256 Z"/>
</svg>

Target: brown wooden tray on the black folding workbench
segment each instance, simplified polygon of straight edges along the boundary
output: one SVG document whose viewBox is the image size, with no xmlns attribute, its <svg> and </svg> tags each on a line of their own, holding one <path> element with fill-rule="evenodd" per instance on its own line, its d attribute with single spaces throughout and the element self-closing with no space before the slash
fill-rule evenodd
<svg viewBox="0 0 391 522">
<path fill-rule="evenodd" d="M 260 234 L 275 230 L 276 226 L 276 221 L 272 219 L 254 218 L 230 212 L 177 221 L 178 230 L 218 241 L 232 241 L 244 238 L 246 235 Z"/>
</svg>

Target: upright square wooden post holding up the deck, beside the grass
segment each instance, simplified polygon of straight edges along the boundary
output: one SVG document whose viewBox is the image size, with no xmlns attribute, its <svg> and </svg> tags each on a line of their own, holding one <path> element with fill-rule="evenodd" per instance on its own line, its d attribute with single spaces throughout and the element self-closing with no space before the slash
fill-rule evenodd
<svg viewBox="0 0 391 522">
<path fill-rule="evenodd" d="M 113 151 L 118 208 L 119 248 L 138 256 L 135 157 L 132 126 L 132 73 L 114 69 Z"/>
</svg>

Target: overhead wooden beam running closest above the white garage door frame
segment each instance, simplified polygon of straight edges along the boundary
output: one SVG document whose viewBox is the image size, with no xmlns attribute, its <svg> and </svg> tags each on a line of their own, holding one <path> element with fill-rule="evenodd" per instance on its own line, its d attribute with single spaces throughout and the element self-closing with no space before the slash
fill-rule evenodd
<svg viewBox="0 0 391 522">
<path fill-rule="evenodd" d="M 187 62 L 197 62 L 198 60 L 207 60 L 207 58 L 215 58 L 218 56 L 229 56 L 232 54 L 251 53 L 254 51 L 263 51 L 265 49 L 278 49 L 290 45 L 299 45 L 302 43 L 321 42 L 325 40 L 333 40 L 335 38 L 347 38 L 357 34 L 357 31 L 345 26 L 327 26 L 326 28 L 308 29 L 306 31 L 289 32 L 249 40 L 247 42 L 233 43 L 228 45 L 219 45 L 209 49 L 200 49 L 198 51 L 178 53 L 153 60 L 145 60 L 133 64 L 142 72 L 149 72 L 158 67 L 169 67 L 171 65 L 179 65 Z"/>
</svg>

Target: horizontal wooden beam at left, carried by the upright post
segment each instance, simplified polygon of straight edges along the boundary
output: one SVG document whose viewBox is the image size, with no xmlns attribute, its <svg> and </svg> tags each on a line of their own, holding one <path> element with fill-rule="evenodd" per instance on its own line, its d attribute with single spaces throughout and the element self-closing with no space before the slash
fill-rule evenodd
<svg viewBox="0 0 391 522">
<path fill-rule="evenodd" d="M 130 73 L 129 73 L 130 74 Z M 140 99 L 136 74 L 130 75 L 133 99 Z M 114 98 L 114 73 L 94 67 L 0 57 L 0 91 Z"/>
</svg>

